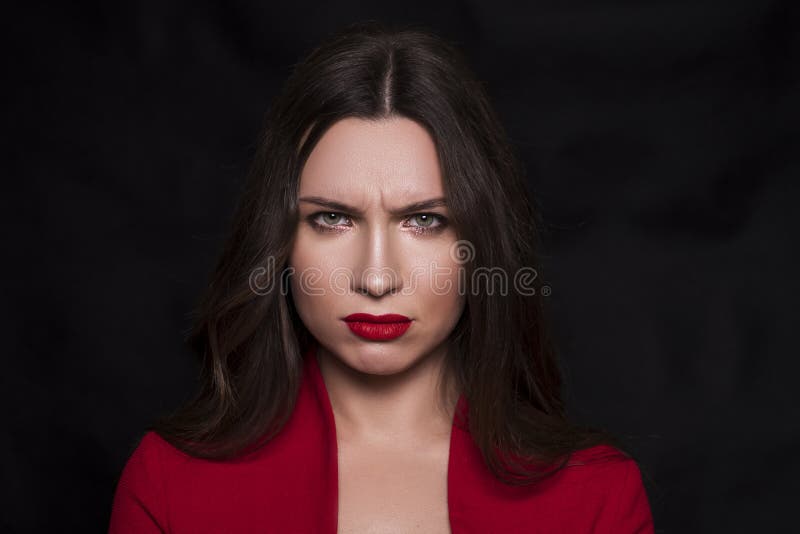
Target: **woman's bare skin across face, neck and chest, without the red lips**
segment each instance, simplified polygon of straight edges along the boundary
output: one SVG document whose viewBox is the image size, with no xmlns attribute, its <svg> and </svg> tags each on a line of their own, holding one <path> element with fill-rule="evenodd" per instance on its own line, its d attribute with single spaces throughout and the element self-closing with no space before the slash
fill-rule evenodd
<svg viewBox="0 0 800 534">
<path fill-rule="evenodd" d="M 444 197 L 434 141 L 406 118 L 343 119 L 309 156 L 298 196 L 292 298 L 320 343 L 334 412 L 339 532 L 449 532 L 457 394 L 448 392 L 441 405 L 438 377 L 465 304 L 451 254 L 458 237 L 446 205 L 393 213 Z M 349 208 L 331 209 L 312 197 Z M 356 312 L 398 313 L 412 324 L 399 338 L 370 341 L 342 320 Z"/>
</svg>

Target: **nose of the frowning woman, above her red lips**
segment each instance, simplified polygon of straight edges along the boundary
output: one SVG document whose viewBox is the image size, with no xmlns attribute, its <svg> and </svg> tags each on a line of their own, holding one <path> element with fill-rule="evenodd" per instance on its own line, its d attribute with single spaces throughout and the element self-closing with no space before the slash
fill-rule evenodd
<svg viewBox="0 0 800 534">
<path fill-rule="evenodd" d="M 380 226 L 380 227 L 379 227 Z M 380 298 L 402 289 L 401 266 L 396 261 L 400 256 L 397 236 L 390 235 L 382 225 L 375 225 L 364 234 L 359 244 L 360 261 L 354 274 L 356 293 Z"/>
</svg>

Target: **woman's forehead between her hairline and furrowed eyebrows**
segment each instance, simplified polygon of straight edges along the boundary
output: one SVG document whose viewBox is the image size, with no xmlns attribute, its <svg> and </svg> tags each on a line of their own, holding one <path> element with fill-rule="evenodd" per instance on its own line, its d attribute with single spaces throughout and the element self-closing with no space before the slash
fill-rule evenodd
<svg viewBox="0 0 800 534">
<path fill-rule="evenodd" d="M 301 195 L 357 199 L 376 192 L 389 199 L 442 195 L 436 145 L 415 121 L 342 119 L 320 138 L 300 175 Z"/>
</svg>

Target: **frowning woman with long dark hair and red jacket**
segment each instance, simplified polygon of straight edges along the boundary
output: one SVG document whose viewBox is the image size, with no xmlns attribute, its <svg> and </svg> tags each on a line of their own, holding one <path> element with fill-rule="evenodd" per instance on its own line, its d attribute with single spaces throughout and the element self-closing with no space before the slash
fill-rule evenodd
<svg viewBox="0 0 800 534">
<path fill-rule="evenodd" d="M 424 31 L 359 24 L 267 115 L 110 531 L 652 532 L 636 462 L 568 421 L 522 170 Z"/>
</svg>

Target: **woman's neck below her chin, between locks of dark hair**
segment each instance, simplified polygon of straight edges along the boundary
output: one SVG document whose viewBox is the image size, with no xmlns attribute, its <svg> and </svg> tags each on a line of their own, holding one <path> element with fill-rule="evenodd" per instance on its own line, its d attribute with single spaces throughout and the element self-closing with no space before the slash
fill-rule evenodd
<svg viewBox="0 0 800 534">
<path fill-rule="evenodd" d="M 458 394 L 451 389 L 444 399 L 440 395 L 445 354 L 443 344 L 401 372 L 377 375 L 353 369 L 318 345 L 337 440 L 392 447 L 448 440 Z"/>
</svg>

